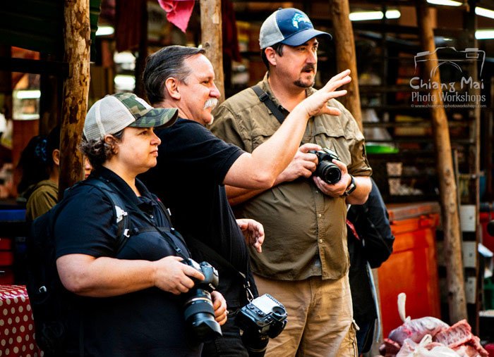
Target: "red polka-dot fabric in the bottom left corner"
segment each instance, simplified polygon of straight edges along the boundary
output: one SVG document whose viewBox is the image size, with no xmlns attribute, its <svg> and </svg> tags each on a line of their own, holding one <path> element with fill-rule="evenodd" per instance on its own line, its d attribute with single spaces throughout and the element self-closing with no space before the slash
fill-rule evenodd
<svg viewBox="0 0 494 357">
<path fill-rule="evenodd" d="M 41 356 L 25 286 L 0 285 L 0 326 L 0 349 L 4 356 Z"/>
</svg>

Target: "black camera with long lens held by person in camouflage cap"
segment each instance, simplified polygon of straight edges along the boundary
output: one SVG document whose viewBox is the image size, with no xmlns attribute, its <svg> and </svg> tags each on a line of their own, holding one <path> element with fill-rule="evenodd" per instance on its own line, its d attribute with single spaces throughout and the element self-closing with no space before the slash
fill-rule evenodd
<svg viewBox="0 0 494 357">
<path fill-rule="evenodd" d="M 205 280 L 193 279 L 194 287 L 185 294 L 183 317 L 188 333 L 201 342 L 222 336 L 211 300 L 211 292 L 218 286 L 218 271 L 205 261 L 199 264 L 188 258 L 182 263 L 190 265 L 205 276 Z"/>
</svg>

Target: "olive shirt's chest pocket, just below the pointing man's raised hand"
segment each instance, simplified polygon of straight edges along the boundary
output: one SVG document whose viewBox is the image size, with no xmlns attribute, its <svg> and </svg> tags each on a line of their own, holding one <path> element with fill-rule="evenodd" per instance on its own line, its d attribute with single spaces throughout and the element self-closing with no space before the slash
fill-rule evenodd
<svg viewBox="0 0 494 357">
<path fill-rule="evenodd" d="M 309 123 L 303 135 L 303 143 L 307 142 L 335 151 L 339 161 L 345 165 L 351 163 L 350 150 L 353 139 L 348 137 L 348 133 L 345 134 L 339 125 L 330 127 L 321 123 Z"/>
</svg>

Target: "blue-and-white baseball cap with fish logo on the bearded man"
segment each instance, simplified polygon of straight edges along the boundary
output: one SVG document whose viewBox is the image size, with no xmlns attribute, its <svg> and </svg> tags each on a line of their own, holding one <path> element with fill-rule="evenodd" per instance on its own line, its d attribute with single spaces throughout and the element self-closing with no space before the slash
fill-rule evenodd
<svg viewBox="0 0 494 357">
<path fill-rule="evenodd" d="M 316 36 L 332 38 L 327 32 L 315 30 L 303 11 L 296 8 L 279 8 L 261 25 L 259 45 L 261 49 L 279 42 L 289 46 L 300 46 Z"/>
</svg>

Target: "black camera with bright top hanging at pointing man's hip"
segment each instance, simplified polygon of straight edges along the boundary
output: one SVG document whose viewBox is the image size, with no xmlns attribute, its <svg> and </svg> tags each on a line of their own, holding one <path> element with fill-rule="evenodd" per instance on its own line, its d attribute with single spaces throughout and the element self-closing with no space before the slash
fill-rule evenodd
<svg viewBox="0 0 494 357">
<path fill-rule="evenodd" d="M 235 324 L 243 331 L 242 342 L 249 357 L 262 357 L 269 339 L 287 325 L 287 310 L 270 294 L 264 294 L 240 309 Z"/>
</svg>

